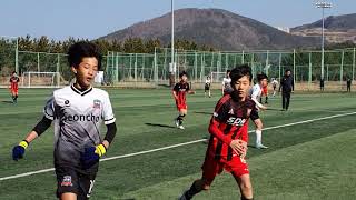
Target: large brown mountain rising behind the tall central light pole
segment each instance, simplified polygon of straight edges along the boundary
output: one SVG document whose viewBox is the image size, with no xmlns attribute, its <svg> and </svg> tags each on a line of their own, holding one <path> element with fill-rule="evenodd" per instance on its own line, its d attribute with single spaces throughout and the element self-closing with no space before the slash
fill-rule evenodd
<svg viewBox="0 0 356 200">
<path fill-rule="evenodd" d="M 170 43 L 171 16 L 136 23 L 100 39 L 156 39 Z M 250 18 L 220 9 L 180 9 L 175 11 L 175 39 L 208 44 L 219 50 L 293 49 L 315 47 L 315 37 L 293 36 Z"/>
</svg>

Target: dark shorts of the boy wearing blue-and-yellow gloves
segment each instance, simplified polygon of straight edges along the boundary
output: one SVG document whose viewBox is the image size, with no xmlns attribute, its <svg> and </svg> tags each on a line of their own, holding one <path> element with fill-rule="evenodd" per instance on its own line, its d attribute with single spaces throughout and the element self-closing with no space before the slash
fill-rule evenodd
<svg viewBox="0 0 356 200">
<path fill-rule="evenodd" d="M 95 164 L 88 170 L 78 170 L 71 167 L 56 166 L 57 197 L 62 193 L 76 193 L 78 200 L 89 199 L 98 172 Z"/>
</svg>

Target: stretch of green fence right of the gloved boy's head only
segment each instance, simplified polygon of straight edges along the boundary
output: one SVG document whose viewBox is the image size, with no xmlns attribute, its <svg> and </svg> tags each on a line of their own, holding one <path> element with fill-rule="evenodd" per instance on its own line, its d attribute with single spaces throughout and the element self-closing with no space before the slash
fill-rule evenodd
<svg viewBox="0 0 356 200">
<path fill-rule="evenodd" d="M 187 71 L 191 82 L 205 81 L 211 72 L 225 72 L 235 66 L 247 63 L 253 73 L 266 73 L 269 78 L 280 80 L 286 69 L 290 69 L 299 89 L 313 89 L 322 79 L 322 51 L 239 51 L 239 52 L 201 52 L 175 51 L 176 69 L 172 70 L 170 49 L 157 49 L 152 54 L 125 54 L 109 52 L 107 62 L 108 80 L 113 84 L 128 82 L 154 82 L 168 84 L 169 74 L 178 78 L 179 72 Z M 335 88 L 345 84 L 347 78 L 355 80 L 355 48 L 325 50 L 324 80 Z"/>
</svg>

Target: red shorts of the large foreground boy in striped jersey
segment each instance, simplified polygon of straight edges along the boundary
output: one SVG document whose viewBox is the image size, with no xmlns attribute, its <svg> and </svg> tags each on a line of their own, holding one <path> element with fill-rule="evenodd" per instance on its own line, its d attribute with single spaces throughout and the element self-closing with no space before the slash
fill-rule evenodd
<svg viewBox="0 0 356 200">
<path fill-rule="evenodd" d="M 231 160 L 229 161 L 227 161 L 226 159 L 215 160 L 212 156 L 207 156 L 201 169 L 202 177 L 208 181 L 206 183 L 209 186 L 214 181 L 215 177 L 217 174 L 220 174 L 224 169 L 237 177 L 249 173 L 246 160 L 237 154 L 234 154 Z"/>
</svg>

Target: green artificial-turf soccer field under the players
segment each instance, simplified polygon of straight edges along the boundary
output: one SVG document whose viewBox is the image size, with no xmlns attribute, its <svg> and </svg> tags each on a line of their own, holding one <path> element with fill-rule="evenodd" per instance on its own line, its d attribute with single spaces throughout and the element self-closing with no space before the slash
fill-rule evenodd
<svg viewBox="0 0 356 200">
<path fill-rule="evenodd" d="M 185 130 L 174 126 L 177 111 L 168 89 L 108 92 L 118 133 L 106 157 L 112 159 L 100 164 L 92 199 L 177 199 L 201 176 L 207 148 L 201 140 L 209 136 L 219 92 L 204 98 L 198 90 L 188 97 Z M 0 90 L 0 199 L 56 199 L 52 128 L 30 144 L 24 159 L 11 160 L 12 147 L 42 118 L 50 93 L 22 89 L 12 104 L 8 91 Z M 289 111 L 279 111 L 280 104 L 280 97 L 270 98 L 274 109 L 260 112 L 269 149 L 250 147 L 247 153 L 255 199 L 355 199 L 356 94 L 296 93 Z M 195 199 L 239 199 L 239 192 L 234 178 L 222 173 Z"/>
</svg>

